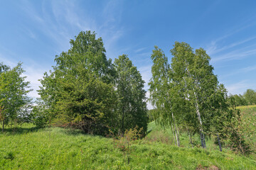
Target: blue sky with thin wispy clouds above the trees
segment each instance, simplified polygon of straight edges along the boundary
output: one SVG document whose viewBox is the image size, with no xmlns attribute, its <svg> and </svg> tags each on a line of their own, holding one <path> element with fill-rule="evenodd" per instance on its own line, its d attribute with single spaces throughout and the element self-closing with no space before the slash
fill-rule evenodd
<svg viewBox="0 0 256 170">
<path fill-rule="evenodd" d="M 129 55 L 146 82 L 154 45 L 170 61 L 183 41 L 208 52 L 229 93 L 256 89 L 256 1 L 0 1 L 0 24 L 0 62 L 23 62 L 34 98 L 38 79 L 81 30 L 102 37 L 107 57 Z"/>
</svg>

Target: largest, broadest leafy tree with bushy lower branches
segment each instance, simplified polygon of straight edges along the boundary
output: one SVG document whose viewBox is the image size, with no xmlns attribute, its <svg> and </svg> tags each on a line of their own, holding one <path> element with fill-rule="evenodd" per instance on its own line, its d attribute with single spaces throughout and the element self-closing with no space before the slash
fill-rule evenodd
<svg viewBox="0 0 256 170">
<path fill-rule="evenodd" d="M 82 31 L 70 45 L 68 52 L 55 57 L 53 72 L 41 79 L 39 94 L 50 117 L 88 132 L 102 118 L 113 117 L 114 69 L 95 33 Z"/>
</svg>

